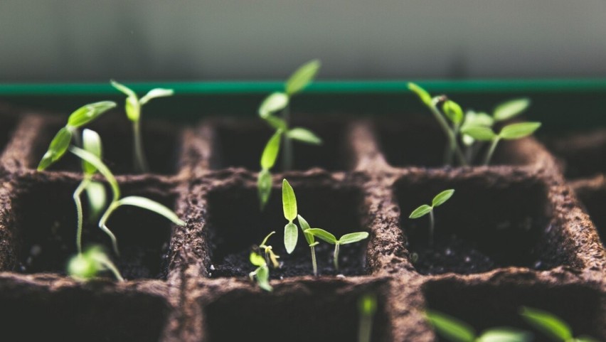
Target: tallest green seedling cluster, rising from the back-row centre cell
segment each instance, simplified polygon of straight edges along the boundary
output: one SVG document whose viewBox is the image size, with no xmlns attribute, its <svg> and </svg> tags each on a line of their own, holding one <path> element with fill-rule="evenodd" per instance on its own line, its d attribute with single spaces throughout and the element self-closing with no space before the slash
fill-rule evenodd
<svg viewBox="0 0 606 342">
<path fill-rule="evenodd" d="M 311 60 L 299 67 L 286 81 L 284 92 L 273 92 L 265 97 L 259 106 L 259 116 L 276 131 L 272 135 L 261 155 L 261 171 L 257 178 L 257 189 L 261 209 L 265 207 L 271 195 L 272 176 L 271 169 L 275 165 L 280 144 L 282 148 L 282 171 L 292 169 L 293 151 L 292 140 L 302 141 L 306 144 L 319 145 L 322 140 L 316 134 L 303 127 L 290 128 L 290 99 L 304 90 L 314 80 L 320 68 L 319 60 Z M 282 112 L 282 117 L 275 115 Z"/>
</svg>

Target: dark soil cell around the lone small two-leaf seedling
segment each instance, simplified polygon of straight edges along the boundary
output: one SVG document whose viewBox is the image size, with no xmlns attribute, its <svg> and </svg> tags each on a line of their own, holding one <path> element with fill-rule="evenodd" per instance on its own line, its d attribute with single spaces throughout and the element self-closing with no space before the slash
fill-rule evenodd
<svg viewBox="0 0 606 342">
<path fill-rule="evenodd" d="M 454 189 L 454 196 L 434 210 L 435 236 L 430 245 L 430 215 L 414 220 L 408 216 L 448 188 Z M 549 269 L 563 258 L 551 240 L 555 233 L 546 233 L 551 212 L 546 188 L 533 179 L 401 178 L 395 193 L 400 227 L 421 274 L 470 274 L 508 266 Z"/>
</svg>

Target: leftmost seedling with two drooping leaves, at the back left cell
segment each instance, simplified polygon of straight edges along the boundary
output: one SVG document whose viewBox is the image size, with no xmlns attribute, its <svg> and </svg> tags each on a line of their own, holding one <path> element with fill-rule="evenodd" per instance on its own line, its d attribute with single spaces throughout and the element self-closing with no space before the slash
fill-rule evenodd
<svg viewBox="0 0 606 342">
<path fill-rule="evenodd" d="M 113 107 L 116 107 L 116 103 L 112 101 L 95 102 L 84 105 L 70 114 L 68 123 L 65 124 L 65 127 L 59 129 L 59 132 L 50 141 L 48 150 L 38 164 L 38 171 L 46 170 L 48 166 L 61 159 L 65 151 L 68 151 L 72 139 L 75 139 L 76 144 L 80 146 L 81 141 L 78 130 Z"/>
</svg>

